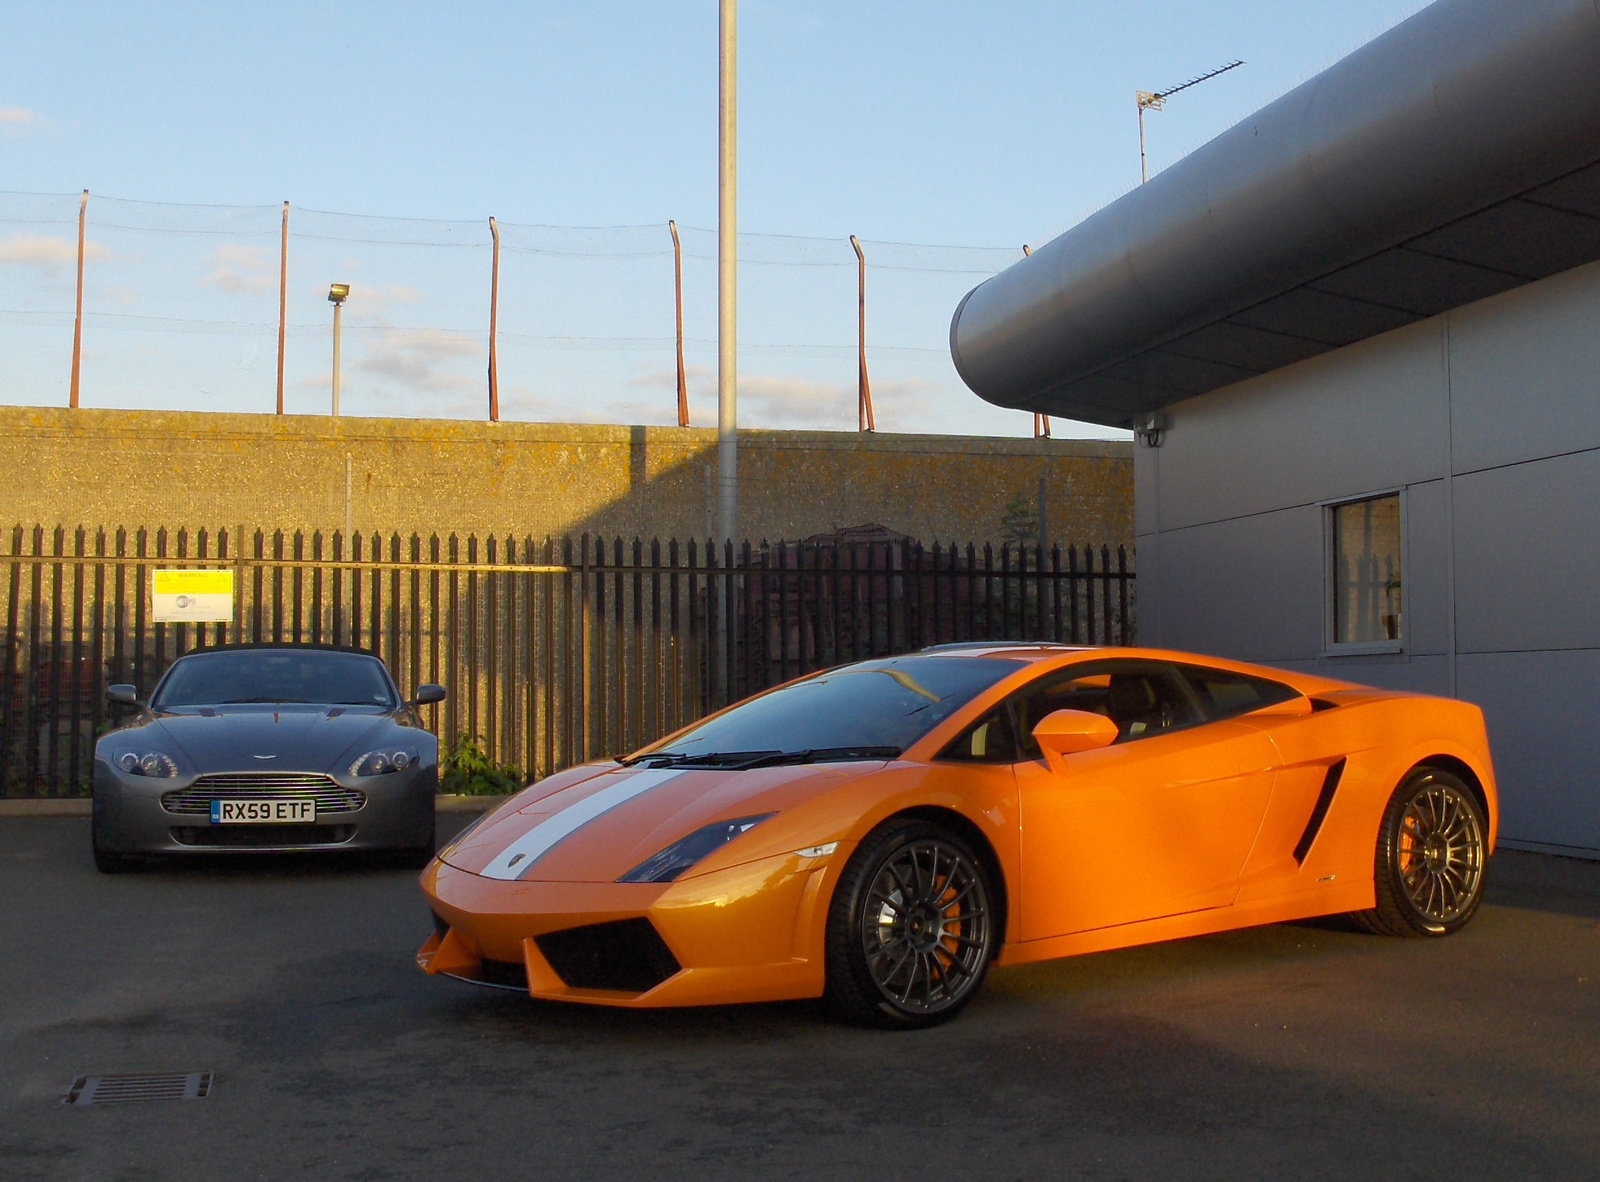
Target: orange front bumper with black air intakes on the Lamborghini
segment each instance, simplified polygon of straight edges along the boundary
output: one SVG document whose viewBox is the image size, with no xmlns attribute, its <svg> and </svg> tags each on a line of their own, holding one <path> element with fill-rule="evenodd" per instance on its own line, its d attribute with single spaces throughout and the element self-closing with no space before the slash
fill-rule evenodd
<svg viewBox="0 0 1600 1182">
<path fill-rule="evenodd" d="M 827 905 L 848 856 L 840 845 L 662 885 L 502 881 L 435 861 L 422 892 L 440 931 L 418 968 L 606 1006 L 821 996 Z"/>
</svg>

